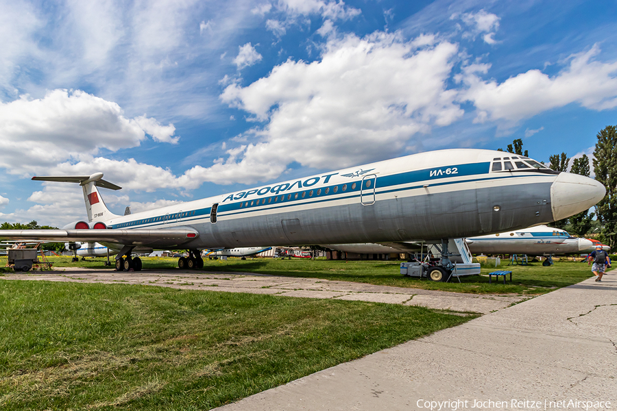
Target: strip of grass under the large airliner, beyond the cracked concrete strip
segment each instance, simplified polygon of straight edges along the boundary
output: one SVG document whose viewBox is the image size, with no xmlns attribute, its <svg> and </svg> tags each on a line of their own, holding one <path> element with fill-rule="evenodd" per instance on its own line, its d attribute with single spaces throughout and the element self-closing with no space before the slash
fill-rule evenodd
<svg viewBox="0 0 617 411">
<path fill-rule="evenodd" d="M 86 260 L 70 262 L 70 258 L 51 258 L 54 267 L 84 266 L 96 269 L 111 269 L 105 267 L 104 260 Z M 144 270 L 175 269 L 177 258 L 143 258 Z M 0 265 L 3 265 L 0 259 Z M 452 292 L 469 292 L 474 294 L 517 294 L 540 295 L 546 292 L 570 286 L 592 276 L 590 268 L 585 263 L 572 261 L 556 261 L 555 265 L 544 267 L 542 263 L 530 263 L 527 266 L 507 266 L 507 262 L 497 269 L 482 269 L 483 275 L 461 277 L 461 283 L 456 279 L 448 283 L 432 282 L 428 279 L 415 279 L 400 274 L 400 261 L 337 261 L 337 260 L 274 260 L 273 258 L 255 258 L 254 260 L 204 260 L 206 272 L 223 273 L 258 273 L 284 275 L 287 277 L 311 277 L 337 281 L 361 282 L 383 286 L 405 288 L 422 288 L 425 290 L 443 290 Z M 501 284 L 485 275 L 498 269 L 513 271 L 512 283 Z M 201 271 L 201 272 L 203 272 Z M 509 278 L 509 277 L 508 277 Z"/>
</svg>

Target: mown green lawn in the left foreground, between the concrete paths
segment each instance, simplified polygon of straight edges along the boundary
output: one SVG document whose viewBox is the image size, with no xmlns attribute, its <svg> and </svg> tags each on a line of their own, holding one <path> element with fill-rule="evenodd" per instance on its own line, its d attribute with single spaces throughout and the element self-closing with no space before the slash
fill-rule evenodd
<svg viewBox="0 0 617 411">
<path fill-rule="evenodd" d="M 0 279 L 0 409 L 206 410 L 473 316 Z"/>
</svg>

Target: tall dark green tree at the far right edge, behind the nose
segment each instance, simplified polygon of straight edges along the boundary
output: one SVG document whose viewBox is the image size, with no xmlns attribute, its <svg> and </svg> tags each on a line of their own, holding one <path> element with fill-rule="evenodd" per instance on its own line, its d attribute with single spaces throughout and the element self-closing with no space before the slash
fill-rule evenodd
<svg viewBox="0 0 617 411">
<path fill-rule="evenodd" d="M 606 196 L 596 204 L 596 214 L 602 225 L 602 237 L 614 248 L 617 242 L 617 126 L 607 125 L 596 137 L 594 172 L 596 180 L 606 188 Z"/>
</svg>

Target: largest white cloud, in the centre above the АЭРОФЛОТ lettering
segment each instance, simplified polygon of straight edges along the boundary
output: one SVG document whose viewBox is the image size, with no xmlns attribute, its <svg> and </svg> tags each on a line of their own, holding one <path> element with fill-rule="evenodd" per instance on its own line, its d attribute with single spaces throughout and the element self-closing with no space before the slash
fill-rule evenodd
<svg viewBox="0 0 617 411">
<path fill-rule="evenodd" d="M 226 160 L 186 175 L 254 182 L 291 162 L 321 169 L 396 155 L 418 133 L 462 116 L 446 87 L 457 51 L 426 36 L 346 36 L 330 39 L 319 61 L 288 60 L 249 86 L 231 84 L 221 99 L 267 124 Z"/>
</svg>

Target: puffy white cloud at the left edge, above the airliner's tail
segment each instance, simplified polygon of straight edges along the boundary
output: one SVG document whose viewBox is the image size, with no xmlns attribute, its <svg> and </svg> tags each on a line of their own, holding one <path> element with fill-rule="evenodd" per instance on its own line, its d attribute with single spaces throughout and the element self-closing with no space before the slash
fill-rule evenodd
<svg viewBox="0 0 617 411">
<path fill-rule="evenodd" d="M 136 147 L 146 134 L 177 142 L 174 131 L 145 115 L 128 119 L 116 103 L 86 92 L 52 90 L 43 99 L 0 103 L 0 167 L 17 175 L 45 172 L 101 149 Z"/>
</svg>

